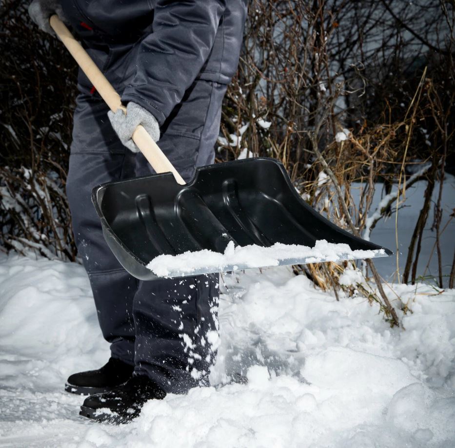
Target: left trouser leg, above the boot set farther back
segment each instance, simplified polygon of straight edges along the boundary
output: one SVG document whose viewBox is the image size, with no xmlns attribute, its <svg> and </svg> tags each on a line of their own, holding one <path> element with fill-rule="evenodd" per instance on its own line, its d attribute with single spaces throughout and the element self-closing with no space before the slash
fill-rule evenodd
<svg viewBox="0 0 455 448">
<path fill-rule="evenodd" d="M 66 191 L 79 256 L 90 279 L 102 334 L 111 343 L 113 357 L 133 364 L 132 313 L 138 281 L 108 248 L 91 202 L 96 185 L 134 176 L 134 155 L 115 135 L 107 110 L 99 97 L 79 95 Z"/>
</svg>

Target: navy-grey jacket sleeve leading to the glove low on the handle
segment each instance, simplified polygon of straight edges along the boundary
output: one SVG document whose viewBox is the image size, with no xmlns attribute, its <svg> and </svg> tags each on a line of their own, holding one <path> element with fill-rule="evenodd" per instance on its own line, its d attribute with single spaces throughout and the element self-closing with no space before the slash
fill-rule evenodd
<svg viewBox="0 0 455 448">
<path fill-rule="evenodd" d="M 151 0 L 153 32 L 141 41 L 137 71 L 122 101 L 151 112 L 161 125 L 210 55 L 225 0 Z"/>
</svg>

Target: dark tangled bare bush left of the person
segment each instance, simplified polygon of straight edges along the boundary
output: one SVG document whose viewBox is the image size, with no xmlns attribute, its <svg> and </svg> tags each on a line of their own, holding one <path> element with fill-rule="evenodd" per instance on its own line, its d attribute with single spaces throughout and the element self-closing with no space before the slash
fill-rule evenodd
<svg viewBox="0 0 455 448">
<path fill-rule="evenodd" d="M 27 6 L 6 0 L 0 9 L 0 246 L 74 260 L 64 187 L 75 63 L 32 26 Z"/>
</svg>

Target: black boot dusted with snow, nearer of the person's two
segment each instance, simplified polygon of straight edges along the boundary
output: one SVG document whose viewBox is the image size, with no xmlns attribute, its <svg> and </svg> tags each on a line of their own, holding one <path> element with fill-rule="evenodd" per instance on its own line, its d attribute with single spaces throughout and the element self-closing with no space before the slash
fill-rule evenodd
<svg viewBox="0 0 455 448">
<path fill-rule="evenodd" d="M 148 376 L 133 376 L 109 392 L 90 395 L 80 407 L 79 415 L 98 422 L 128 423 L 140 414 L 148 400 L 162 400 L 166 392 Z"/>
</svg>

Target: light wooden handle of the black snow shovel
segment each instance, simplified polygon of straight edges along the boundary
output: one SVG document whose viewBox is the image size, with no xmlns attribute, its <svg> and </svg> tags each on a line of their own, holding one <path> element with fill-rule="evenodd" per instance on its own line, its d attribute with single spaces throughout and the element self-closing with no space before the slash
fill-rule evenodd
<svg viewBox="0 0 455 448">
<path fill-rule="evenodd" d="M 73 58 L 75 58 L 87 78 L 90 79 L 90 82 L 109 106 L 109 109 L 111 109 L 112 112 L 116 112 L 121 108 L 126 112 L 126 108 L 122 105 L 119 94 L 114 90 L 110 82 L 102 74 L 101 70 L 99 70 L 80 43 L 74 38 L 65 24 L 57 15 L 52 16 L 49 21 L 57 36 L 59 36 L 65 47 Z M 140 149 L 140 152 L 145 156 L 157 173 L 171 172 L 180 185 L 185 185 L 185 181 L 143 126 L 139 125 L 136 128 L 132 138 Z"/>
</svg>

